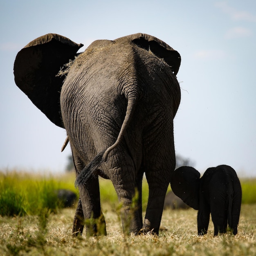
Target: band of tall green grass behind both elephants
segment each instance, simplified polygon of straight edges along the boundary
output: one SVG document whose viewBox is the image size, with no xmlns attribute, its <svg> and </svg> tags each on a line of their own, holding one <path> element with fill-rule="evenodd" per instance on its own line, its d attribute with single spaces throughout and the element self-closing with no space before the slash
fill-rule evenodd
<svg viewBox="0 0 256 256">
<path fill-rule="evenodd" d="M 58 199 L 58 189 L 69 189 L 79 197 L 74 187 L 74 173 L 65 173 L 55 177 L 45 177 L 22 172 L 0 172 L 0 215 L 40 215 L 47 210 L 56 213 L 63 207 Z M 117 207 L 117 193 L 110 180 L 99 179 L 101 202 Z M 256 203 L 256 179 L 241 180 L 242 203 Z M 170 190 L 170 186 L 168 188 Z M 142 182 L 142 209 L 146 210 L 148 201 L 148 184 Z"/>
</svg>

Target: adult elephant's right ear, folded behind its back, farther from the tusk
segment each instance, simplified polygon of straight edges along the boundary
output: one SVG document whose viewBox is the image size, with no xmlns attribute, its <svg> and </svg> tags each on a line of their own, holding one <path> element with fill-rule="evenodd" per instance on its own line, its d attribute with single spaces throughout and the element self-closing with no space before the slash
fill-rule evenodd
<svg viewBox="0 0 256 256">
<path fill-rule="evenodd" d="M 175 76 L 177 75 L 181 62 L 180 54 L 164 43 L 164 41 L 154 36 L 141 33 L 125 36 L 125 38 L 128 38 L 128 40 L 131 40 L 137 46 L 144 48 L 147 51 L 150 50 L 159 58 L 163 58 L 164 61 L 172 67 L 173 74 L 175 74 Z"/>
</svg>

